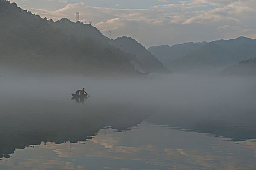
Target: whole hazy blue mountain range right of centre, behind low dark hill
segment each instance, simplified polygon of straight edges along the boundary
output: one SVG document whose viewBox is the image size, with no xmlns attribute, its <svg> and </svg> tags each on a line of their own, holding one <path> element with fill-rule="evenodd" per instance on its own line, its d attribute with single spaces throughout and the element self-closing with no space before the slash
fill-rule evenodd
<svg viewBox="0 0 256 170">
<path fill-rule="evenodd" d="M 194 69 L 200 70 L 202 68 L 206 70 L 223 69 L 241 60 L 256 56 L 256 40 L 246 37 L 238 37 L 230 40 L 217 40 L 209 43 L 184 43 L 172 47 L 151 47 L 148 50 L 156 56 L 163 56 L 161 55 L 161 52 L 156 49 L 170 49 L 174 47 L 181 48 L 180 51 L 183 51 L 183 53 L 176 53 L 172 50 L 169 53 L 169 58 L 163 57 L 164 59 L 161 59 L 163 64 L 174 72 L 188 72 L 193 71 Z"/>
</svg>

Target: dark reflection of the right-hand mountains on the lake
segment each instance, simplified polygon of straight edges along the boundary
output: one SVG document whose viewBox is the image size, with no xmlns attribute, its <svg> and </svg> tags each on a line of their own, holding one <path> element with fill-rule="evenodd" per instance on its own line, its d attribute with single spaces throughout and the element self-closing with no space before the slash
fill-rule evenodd
<svg viewBox="0 0 256 170">
<path fill-rule="evenodd" d="M 195 131 L 216 137 L 227 137 L 236 141 L 256 139 L 255 109 L 180 108 L 171 113 L 152 115 L 149 122 L 173 126 L 179 130 Z"/>
</svg>

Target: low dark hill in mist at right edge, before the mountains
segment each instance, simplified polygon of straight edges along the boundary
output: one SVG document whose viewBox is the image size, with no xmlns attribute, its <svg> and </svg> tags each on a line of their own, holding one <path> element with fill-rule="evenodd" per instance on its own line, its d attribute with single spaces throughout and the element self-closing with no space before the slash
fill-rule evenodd
<svg viewBox="0 0 256 170">
<path fill-rule="evenodd" d="M 223 75 L 256 75 L 256 58 L 240 61 L 238 65 L 225 68 L 222 71 Z"/>
</svg>

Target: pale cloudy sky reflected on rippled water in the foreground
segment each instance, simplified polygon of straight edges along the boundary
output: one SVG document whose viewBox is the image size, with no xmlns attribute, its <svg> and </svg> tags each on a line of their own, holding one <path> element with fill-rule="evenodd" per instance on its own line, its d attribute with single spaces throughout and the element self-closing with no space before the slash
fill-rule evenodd
<svg viewBox="0 0 256 170">
<path fill-rule="evenodd" d="M 73 143 L 72 152 L 70 142 L 41 143 L 18 150 L 3 167 L 33 168 L 40 164 L 42 169 L 238 170 L 254 169 L 255 156 L 255 142 L 236 144 L 143 121 L 126 133 L 100 130 L 86 142 Z"/>
</svg>

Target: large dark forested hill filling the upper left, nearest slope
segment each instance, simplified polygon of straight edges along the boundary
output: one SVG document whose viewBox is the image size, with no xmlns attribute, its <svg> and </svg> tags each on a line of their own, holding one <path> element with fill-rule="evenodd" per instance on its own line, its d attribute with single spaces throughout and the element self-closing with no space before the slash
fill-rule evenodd
<svg viewBox="0 0 256 170">
<path fill-rule="evenodd" d="M 7 0 L 0 0 L 0 30 L 1 68 L 83 75 L 148 71 L 137 55 L 110 45 L 92 25 L 43 19 Z"/>
</svg>

